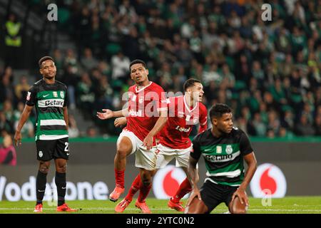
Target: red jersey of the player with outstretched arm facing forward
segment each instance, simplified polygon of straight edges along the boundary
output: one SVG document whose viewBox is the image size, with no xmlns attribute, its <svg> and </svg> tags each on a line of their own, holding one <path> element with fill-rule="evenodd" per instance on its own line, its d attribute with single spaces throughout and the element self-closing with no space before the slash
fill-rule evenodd
<svg viewBox="0 0 321 228">
<path fill-rule="evenodd" d="M 131 86 L 128 89 L 128 117 L 124 129 L 130 130 L 143 141 L 156 124 L 158 111 L 162 108 L 166 108 L 166 98 L 161 86 L 153 82 L 140 90 L 136 85 Z"/>
</svg>

